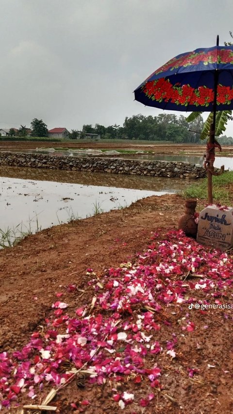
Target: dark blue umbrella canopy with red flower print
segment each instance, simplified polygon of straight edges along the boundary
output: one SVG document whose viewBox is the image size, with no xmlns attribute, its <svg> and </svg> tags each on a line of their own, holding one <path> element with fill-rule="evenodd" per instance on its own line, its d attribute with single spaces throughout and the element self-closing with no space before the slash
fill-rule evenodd
<svg viewBox="0 0 233 414">
<path fill-rule="evenodd" d="M 172 111 L 233 109 L 233 46 L 179 54 L 155 70 L 134 95 L 142 104 Z"/>
</svg>

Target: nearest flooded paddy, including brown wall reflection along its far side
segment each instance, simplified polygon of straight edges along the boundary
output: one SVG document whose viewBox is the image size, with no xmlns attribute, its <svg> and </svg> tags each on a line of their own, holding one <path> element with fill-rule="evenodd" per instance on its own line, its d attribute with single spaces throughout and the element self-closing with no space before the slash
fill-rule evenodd
<svg viewBox="0 0 233 414">
<path fill-rule="evenodd" d="M 10 229 L 17 237 L 151 195 L 177 192 L 189 184 L 172 178 L 0 167 L 1 234 Z"/>
</svg>

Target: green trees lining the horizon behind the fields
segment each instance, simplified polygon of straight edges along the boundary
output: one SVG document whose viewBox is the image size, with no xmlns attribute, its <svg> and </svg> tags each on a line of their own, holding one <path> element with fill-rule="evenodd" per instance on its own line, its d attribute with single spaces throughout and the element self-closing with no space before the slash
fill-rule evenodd
<svg viewBox="0 0 233 414">
<path fill-rule="evenodd" d="M 201 116 L 192 122 L 187 122 L 183 115 L 159 114 L 157 116 L 144 116 L 141 114 L 126 117 L 123 126 L 109 125 L 105 127 L 99 123 L 83 125 L 82 131 L 72 129 L 70 139 L 82 139 L 86 134 L 98 134 L 102 139 L 133 139 L 150 141 L 171 141 L 175 143 L 200 143 L 200 132 L 204 121 Z M 47 137 L 48 127 L 43 120 L 34 118 L 31 129 L 21 125 L 17 133 L 11 128 L 11 136 Z M 222 144 L 233 145 L 233 138 L 220 137 Z"/>
</svg>

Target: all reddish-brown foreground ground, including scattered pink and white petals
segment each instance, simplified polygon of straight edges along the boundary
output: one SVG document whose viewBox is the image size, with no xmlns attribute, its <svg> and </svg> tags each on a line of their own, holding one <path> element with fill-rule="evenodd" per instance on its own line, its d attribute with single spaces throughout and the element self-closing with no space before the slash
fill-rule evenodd
<svg viewBox="0 0 233 414">
<path fill-rule="evenodd" d="M 153 196 L 0 252 L 2 413 L 52 389 L 56 413 L 232 413 L 233 259 L 175 230 L 183 204 Z"/>
</svg>

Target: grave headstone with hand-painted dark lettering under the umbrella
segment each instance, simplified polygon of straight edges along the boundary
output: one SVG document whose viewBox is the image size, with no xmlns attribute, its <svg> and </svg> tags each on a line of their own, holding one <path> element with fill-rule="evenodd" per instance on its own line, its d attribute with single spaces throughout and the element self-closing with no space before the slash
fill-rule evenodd
<svg viewBox="0 0 233 414">
<path fill-rule="evenodd" d="M 222 251 L 233 246 L 233 207 L 210 205 L 199 215 L 197 241 Z"/>
</svg>

